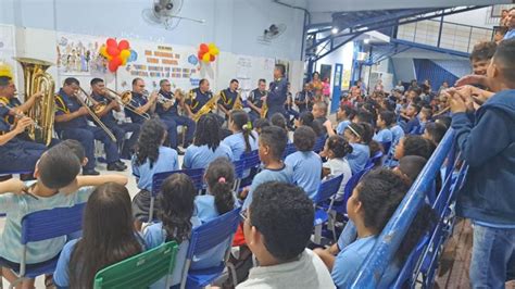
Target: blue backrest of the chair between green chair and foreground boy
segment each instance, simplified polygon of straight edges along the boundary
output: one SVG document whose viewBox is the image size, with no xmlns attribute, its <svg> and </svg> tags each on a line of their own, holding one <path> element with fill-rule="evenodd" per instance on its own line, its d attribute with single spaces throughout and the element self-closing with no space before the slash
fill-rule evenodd
<svg viewBox="0 0 515 289">
<path fill-rule="evenodd" d="M 239 224 L 239 213 L 238 208 L 193 228 L 186 259 L 191 260 L 193 255 L 202 254 L 234 235 Z"/>
</svg>

